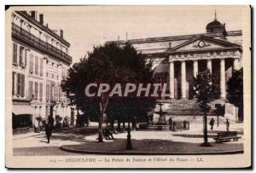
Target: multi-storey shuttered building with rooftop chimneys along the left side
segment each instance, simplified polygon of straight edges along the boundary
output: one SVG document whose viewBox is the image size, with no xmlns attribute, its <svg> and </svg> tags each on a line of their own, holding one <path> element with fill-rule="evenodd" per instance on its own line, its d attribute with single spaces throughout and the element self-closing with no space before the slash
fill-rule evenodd
<svg viewBox="0 0 256 173">
<path fill-rule="evenodd" d="M 39 17 L 39 18 L 38 18 Z M 35 118 L 70 117 L 74 110 L 61 91 L 72 63 L 63 31 L 53 31 L 37 11 L 14 11 L 12 36 L 13 128 L 32 127 Z"/>
</svg>

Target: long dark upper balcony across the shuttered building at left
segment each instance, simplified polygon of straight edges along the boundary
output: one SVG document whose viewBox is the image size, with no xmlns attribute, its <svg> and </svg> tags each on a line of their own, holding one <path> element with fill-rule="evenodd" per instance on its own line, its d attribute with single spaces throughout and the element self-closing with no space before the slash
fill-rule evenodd
<svg viewBox="0 0 256 173">
<path fill-rule="evenodd" d="M 53 56 L 59 61 L 64 61 L 67 64 L 72 63 L 72 57 L 70 55 L 67 55 L 60 49 L 56 49 L 54 46 L 44 42 L 40 38 L 35 37 L 30 32 L 27 32 L 20 26 L 17 26 L 15 23 L 12 23 L 12 37 L 15 37 L 23 43 L 27 43 L 32 48 L 39 49 L 46 55 Z"/>
</svg>

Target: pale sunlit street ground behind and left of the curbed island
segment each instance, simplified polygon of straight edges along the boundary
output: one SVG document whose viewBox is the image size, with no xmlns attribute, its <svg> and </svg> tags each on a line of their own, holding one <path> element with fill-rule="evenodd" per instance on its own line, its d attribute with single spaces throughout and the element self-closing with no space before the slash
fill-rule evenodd
<svg viewBox="0 0 256 173">
<path fill-rule="evenodd" d="M 170 130 L 137 130 L 137 131 L 131 131 L 131 138 L 134 141 L 145 141 L 145 144 L 148 145 L 148 140 L 151 142 L 154 142 L 154 145 L 156 148 L 160 148 L 161 144 L 164 143 L 164 141 L 169 142 L 172 141 L 173 143 L 178 143 L 178 145 L 197 145 L 203 142 L 203 133 L 202 128 L 198 128 L 199 126 L 202 126 L 202 124 L 191 124 L 190 130 L 181 130 L 177 132 L 172 132 Z M 96 126 L 95 126 L 96 128 Z M 215 127 L 215 130 L 209 130 L 208 136 L 209 141 L 212 142 L 212 137 L 216 135 L 218 131 L 225 130 L 225 125 L 220 124 L 219 127 Z M 235 144 L 241 144 L 244 140 L 243 138 L 243 131 L 242 131 L 242 124 L 233 124 L 230 127 L 230 130 L 237 130 L 239 132 L 239 136 L 241 136 L 241 139 L 239 141 L 230 141 L 225 143 L 225 146 L 232 146 Z M 71 130 L 69 130 L 71 131 Z M 84 131 L 86 131 L 86 128 L 84 128 Z M 73 146 L 86 146 L 91 144 L 91 141 L 96 141 L 97 135 L 79 135 L 79 134 L 72 134 L 72 133 L 62 133 L 62 132 L 55 132 L 53 133 L 53 136 L 51 137 L 50 143 L 46 143 L 47 139 L 44 133 L 39 134 L 38 136 L 25 136 L 20 135 L 23 138 L 19 138 L 19 136 L 15 136 L 15 139 L 13 140 L 13 146 L 14 146 L 14 155 L 80 155 L 79 153 L 69 153 L 61 150 L 61 146 L 65 145 L 73 145 Z M 116 138 L 116 141 L 110 141 L 107 140 L 107 142 L 112 142 L 113 145 L 119 145 L 119 142 L 126 139 L 127 133 L 119 133 L 118 135 L 113 135 Z M 105 140 L 106 141 L 106 140 Z M 121 143 L 122 143 L 121 142 Z M 123 147 L 123 144 L 121 144 L 119 147 Z M 84 145 L 83 145 L 84 144 Z M 105 145 L 105 144 L 104 144 Z M 140 145 L 142 143 L 140 142 Z M 95 146 L 96 147 L 97 143 Z M 99 145 L 100 146 L 100 145 Z"/>
</svg>

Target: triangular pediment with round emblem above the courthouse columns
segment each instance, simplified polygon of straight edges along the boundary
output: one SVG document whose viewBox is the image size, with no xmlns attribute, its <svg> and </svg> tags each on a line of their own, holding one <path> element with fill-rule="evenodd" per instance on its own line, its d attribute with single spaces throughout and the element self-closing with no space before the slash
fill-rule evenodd
<svg viewBox="0 0 256 173">
<path fill-rule="evenodd" d="M 230 43 L 225 40 L 220 40 L 212 37 L 196 37 L 185 43 L 179 44 L 176 47 L 168 49 L 167 52 L 184 52 L 184 51 L 201 51 L 207 49 L 226 49 L 226 48 L 241 48 L 236 43 Z"/>
</svg>

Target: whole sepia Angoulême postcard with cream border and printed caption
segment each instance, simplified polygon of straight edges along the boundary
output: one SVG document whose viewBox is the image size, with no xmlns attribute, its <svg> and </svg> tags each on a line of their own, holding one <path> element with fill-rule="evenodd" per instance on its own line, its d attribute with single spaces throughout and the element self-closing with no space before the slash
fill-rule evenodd
<svg viewBox="0 0 256 173">
<path fill-rule="evenodd" d="M 250 168 L 250 6 L 6 6 L 7 168 Z"/>
</svg>

